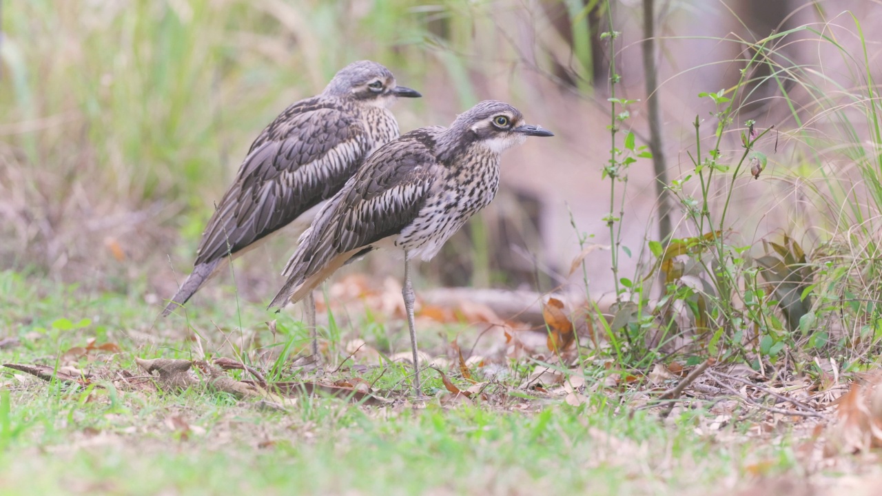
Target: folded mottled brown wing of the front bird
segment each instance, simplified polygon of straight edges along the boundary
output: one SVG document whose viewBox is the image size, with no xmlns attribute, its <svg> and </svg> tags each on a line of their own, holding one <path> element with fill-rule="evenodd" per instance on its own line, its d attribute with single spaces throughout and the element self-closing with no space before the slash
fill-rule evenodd
<svg viewBox="0 0 882 496">
<path fill-rule="evenodd" d="M 432 147 L 442 129 L 409 132 L 370 155 L 303 233 L 284 272 L 288 282 L 270 306 L 284 304 L 295 291 L 303 293 L 300 286 L 314 274 L 325 274 L 329 264 L 348 261 L 335 260 L 340 255 L 369 249 L 414 222 L 441 167 Z"/>
</svg>

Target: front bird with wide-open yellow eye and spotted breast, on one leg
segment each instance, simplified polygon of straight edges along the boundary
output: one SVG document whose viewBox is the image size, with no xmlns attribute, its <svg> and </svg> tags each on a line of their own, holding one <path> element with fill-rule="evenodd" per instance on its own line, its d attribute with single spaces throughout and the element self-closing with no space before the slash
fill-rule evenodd
<svg viewBox="0 0 882 496">
<path fill-rule="evenodd" d="M 421 397 L 410 261 L 430 260 L 490 204 L 499 187 L 502 153 L 527 136 L 554 134 L 526 124 L 512 105 L 487 100 L 449 127 L 416 129 L 380 147 L 303 231 L 285 269 L 288 280 L 270 308 L 300 301 L 368 252 L 397 252 L 404 259 L 401 295 L 414 358 L 414 393 Z"/>
</svg>

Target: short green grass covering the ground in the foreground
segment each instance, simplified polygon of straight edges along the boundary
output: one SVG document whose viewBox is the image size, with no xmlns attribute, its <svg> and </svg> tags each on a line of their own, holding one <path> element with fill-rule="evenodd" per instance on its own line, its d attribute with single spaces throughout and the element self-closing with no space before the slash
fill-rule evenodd
<svg viewBox="0 0 882 496">
<path fill-rule="evenodd" d="M 0 323 L 20 340 L 0 349 L 3 363 L 53 366 L 60 350 L 90 338 L 122 351 L 80 360 L 86 371 L 138 373 L 134 357 L 191 357 L 193 343 L 178 323 L 151 328 L 156 309 L 131 297 L 5 272 L 0 302 Z M 207 311 L 191 325 L 225 318 Z M 263 328 L 258 337 L 269 340 L 264 319 L 243 315 L 246 327 Z M 139 333 L 146 332 L 157 337 L 145 341 Z M 203 332 L 209 341 L 217 334 L 207 326 Z M 405 372 L 388 368 L 377 387 L 406 392 Z M 3 493 L 699 494 L 719 489 L 721 480 L 732 489 L 804 470 L 791 446 L 804 434 L 786 425 L 775 440 L 757 436 L 753 422 L 714 429 L 710 405 L 701 402 L 662 421 L 634 408 L 639 395 L 627 391 L 588 394 L 579 407 L 527 400 L 501 408 L 446 402 L 441 385 L 430 382 L 436 397 L 425 405 L 401 399 L 377 408 L 301 396 L 281 412 L 205 389 L 161 394 L 108 379 L 83 389 L 8 369 L 2 380 Z"/>
</svg>

